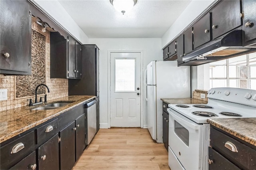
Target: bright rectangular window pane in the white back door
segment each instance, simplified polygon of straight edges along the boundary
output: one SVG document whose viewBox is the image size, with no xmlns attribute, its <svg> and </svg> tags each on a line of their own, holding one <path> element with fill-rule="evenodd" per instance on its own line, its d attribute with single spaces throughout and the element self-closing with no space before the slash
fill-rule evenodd
<svg viewBox="0 0 256 170">
<path fill-rule="evenodd" d="M 115 59 L 115 91 L 135 91 L 135 59 Z"/>
</svg>

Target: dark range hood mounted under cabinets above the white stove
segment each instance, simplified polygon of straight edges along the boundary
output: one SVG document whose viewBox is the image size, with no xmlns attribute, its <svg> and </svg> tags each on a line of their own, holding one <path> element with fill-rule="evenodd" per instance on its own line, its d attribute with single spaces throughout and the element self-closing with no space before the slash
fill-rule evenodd
<svg viewBox="0 0 256 170">
<path fill-rule="evenodd" d="M 181 65 L 200 65 L 254 51 L 256 47 L 242 46 L 242 30 L 234 30 L 184 55 L 182 61 L 185 63 Z"/>
</svg>

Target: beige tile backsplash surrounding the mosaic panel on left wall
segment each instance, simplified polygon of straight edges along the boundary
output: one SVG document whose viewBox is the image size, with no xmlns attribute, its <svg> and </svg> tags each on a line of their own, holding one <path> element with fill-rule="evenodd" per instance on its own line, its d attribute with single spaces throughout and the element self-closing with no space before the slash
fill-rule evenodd
<svg viewBox="0 0 256 170">
<path fill-rule="evenodd" d="M 46 85 L 50 89 L 50 93 L 47 94 L 47 99 L 57 99 L 60 97 L 66 97 L 68 96 L 68 79 L 50 79 L 50 32 L 46 30 L 46 32 L 42 32 L 42 27 L 38 25 L 36 22 L 32 22 L 32 28 L 36 30 L 37 32 L 40 32 L 40 34 L 43 34 L 46 36 L 46 53 L 45 53 L 45 77 L 46 77 Z M 41 45 L 41 44 L 38 44 Z M 32 46 L 32 48 L 37 48 L 38 46 Z M 32 51 L 36 51 L 35 49 L 32 49 Z M 32 65 L 32 67 L 36 67 L 36 65 Z M 0 74 L 0 89 L 7 89 L 7 100 L 0 101 L 0 111 L 6 111 L 9 109 L 14 109 L 22 106 L 28 105 L 27 99 L 35 100 L 34 93 L 32 96 L 26 96 L 26 97 L 20 97 L 16 98 L 16 89 L 14 85 L 14 80 L 16 79 L 16 76 L 14 75 L 3 75 Z M 24 80 L 26 81 L 26 79 Z M 22 82 L 22 81 L 21 81 Z M 39 82 L 33 85 L 36 87 L 39 85 Z M 23 89 L 22 89 L 23 88 Z M 17 90 L 24 90 L 26 88 L 26 85 L 22 86 L 22 88 L 17 88 Z M 35 90 L 35 89 L 34 89 Z M 42 95 L 44 96 L 44 94 Z M 40 95 L 38 95 L 39 100 Z"/>
</svg>

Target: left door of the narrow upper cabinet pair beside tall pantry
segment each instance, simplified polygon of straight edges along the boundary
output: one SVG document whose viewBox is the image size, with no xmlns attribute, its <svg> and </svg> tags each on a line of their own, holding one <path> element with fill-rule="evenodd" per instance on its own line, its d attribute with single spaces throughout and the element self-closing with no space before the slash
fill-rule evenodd
<svg viewBox="0 0 256 170">
<path fill-rule="evenodd" d="M 68 37 L 68 77 L 76 77 L 76 42 Z"/>
</svg>

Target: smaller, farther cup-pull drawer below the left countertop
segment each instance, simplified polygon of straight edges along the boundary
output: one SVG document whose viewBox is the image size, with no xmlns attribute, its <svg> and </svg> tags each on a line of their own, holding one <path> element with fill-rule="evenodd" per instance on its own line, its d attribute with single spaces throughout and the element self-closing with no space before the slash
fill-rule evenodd
<svg viewBox="0 0 256 170">
<path fill-rule="evenodd" d="M 58 131 L 58 119 L 43 125 L 36 129 L 37 144 L 41 144 L 44 141 L 50 139 Z"/>
</svg>

